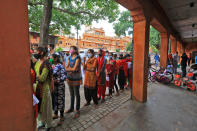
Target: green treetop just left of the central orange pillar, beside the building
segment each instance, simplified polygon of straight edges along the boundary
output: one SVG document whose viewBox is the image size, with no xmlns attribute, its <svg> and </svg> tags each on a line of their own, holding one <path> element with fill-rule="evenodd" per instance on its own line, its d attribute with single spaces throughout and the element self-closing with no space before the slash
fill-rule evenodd
<svg viewBox="0 0 197 131">
<path fill-rule="evenodd" d="M 124 11 L 120 14 L 118 22 L 113 24 L 115 34 L 117 36 L 131 35 L 133 27 L 133 21 L 129 11 Z"/>
</svg>

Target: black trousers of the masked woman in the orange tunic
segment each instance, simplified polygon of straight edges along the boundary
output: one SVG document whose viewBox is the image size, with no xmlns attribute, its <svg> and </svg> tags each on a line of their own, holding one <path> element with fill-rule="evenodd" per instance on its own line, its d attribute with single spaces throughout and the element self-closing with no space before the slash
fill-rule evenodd
<svg viewBox="0 0 197 131">
<path fill-rule="evenodd" d="M 94 104 L 98 104 L 98 96 L 97 96 L 97 88 L 90 89 L 84 87 L 84 93 L 85 93 L 85 99 L 87 103 L 90 103 L 91 100 L 93 99 Z"/>
</svg>

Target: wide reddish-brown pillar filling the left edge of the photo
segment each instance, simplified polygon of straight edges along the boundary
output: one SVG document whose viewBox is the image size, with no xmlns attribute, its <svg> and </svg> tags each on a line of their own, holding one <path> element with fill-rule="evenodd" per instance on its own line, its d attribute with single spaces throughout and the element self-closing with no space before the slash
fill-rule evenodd
<svg viewBox="0 0 197 131">
<path fill-rule="evenodd" d="M 0 130 L 33 131 L 27 0 L 0 1 Z"/>
</svg>

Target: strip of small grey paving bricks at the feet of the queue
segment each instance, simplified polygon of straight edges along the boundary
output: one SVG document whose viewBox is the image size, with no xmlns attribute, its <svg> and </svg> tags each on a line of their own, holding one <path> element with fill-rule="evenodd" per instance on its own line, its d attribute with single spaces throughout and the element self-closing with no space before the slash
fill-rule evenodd
<svg viewBox="0 0 197 131">
<path fill-rule="evenodd" d="M 83 88 L 80 89 L 81 94 L 81 105 L 84 105 L 85 99 L 83 94 Z M 68 89 L 66 89 L 66 106 L 68 109 L 70 104 L 70 98 L 68 97 Z M 130 98 L 130 90 L 125 90 L 120 96 L 113 96 L 112 98 L 106 98 L 105 103 L 99 103 L 97 108 L 91 103 L 90 106 L 81 107 L 80 117 L 73 118 L 74 113 L 65 114 L 65 120 L 61 126 L 57 126 L 58 120 L 53 121 L 53 127 L 51 131 L 83 131 L 102 119 L 104 116 L 108 115 L 115 109 L 119 108 L 122 104 L 128 101 Z M 44 131 L 40 129 L 39 131 Z"/>
</svg>

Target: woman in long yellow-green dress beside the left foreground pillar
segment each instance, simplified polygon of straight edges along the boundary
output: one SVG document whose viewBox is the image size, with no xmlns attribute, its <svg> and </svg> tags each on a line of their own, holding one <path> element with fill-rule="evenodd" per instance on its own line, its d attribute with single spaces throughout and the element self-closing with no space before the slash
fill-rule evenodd
<svg viewBox="0 0 197 131">
<path fill-rule="evenodd" d="M 39 99 L 38 110 L 39 119 L 41 120 L 40 127 L 45 126 L 51 128 L 52 122 L 52 100 L 51 100 L 51 81 L 52 68 L 47 60 L 47 49 L 38 48 L 39 60 L 35 64 L 36 72 L 36 96 Z M 51 89 L 53 90 L 53 89 Z"/>
</svg>

